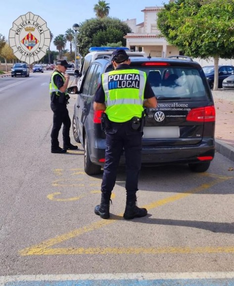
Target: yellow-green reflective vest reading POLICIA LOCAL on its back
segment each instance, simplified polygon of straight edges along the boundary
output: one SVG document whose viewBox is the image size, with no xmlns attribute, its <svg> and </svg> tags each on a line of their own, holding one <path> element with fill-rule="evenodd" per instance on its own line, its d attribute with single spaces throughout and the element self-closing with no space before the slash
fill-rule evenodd
<svg viewBox="0 0 234 286">
<path fill-rule="evenodd" d="M 106 114 L 114 122 L 125 122 L 143 111 L 146 73 L 136 69 L 102 74 Z"/>
</svg>

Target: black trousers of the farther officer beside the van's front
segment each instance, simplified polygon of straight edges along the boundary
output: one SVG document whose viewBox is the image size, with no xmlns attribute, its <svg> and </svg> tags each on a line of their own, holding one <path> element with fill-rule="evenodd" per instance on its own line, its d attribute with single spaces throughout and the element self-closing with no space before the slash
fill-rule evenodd
<svg viewBox="0 0 234 286">
<path fill-rule="evenodd" d="M 51 148 L 59 147 L 58 133 L 62 128 L 63 145 L 70 144 L 69 131 L 71 127 L 71 119 L 68 114 L 66 103 L 51 102 L 51 110 L 53 111 L 53 127 L 51 130 Z"/>
</svg>

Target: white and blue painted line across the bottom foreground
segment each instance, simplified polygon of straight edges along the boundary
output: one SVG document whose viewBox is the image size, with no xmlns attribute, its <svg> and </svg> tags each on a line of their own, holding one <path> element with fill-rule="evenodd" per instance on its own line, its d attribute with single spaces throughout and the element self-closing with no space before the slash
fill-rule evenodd
<svg viewBox="0 0 234 286">
<path fill-rule="evenodd" d="M 2 276 L 0 286 L 234 286 L 234 272 Z"/>
</svg>

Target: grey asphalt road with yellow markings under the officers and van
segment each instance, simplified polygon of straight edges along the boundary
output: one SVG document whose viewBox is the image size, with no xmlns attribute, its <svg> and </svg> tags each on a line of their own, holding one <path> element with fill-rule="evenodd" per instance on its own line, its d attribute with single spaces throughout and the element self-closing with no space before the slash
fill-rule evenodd
<svg viewBox="0 0 234 286">
<path fill-rule="evenodd" d="M 101 220 L 94 215 L 101 175 L 83 171 L 80 144 L 72 140 L 80 150 L 50 153 L 50 73 L 0 79 L 0 286 L 87 279 L 79 285 L 176 285 L 165 284 L 169 278 L 177 285 L 192 278 L 233 285 L 233 161 L 216 153 L 205 173 L 142 168 L 138 205 L 148 216 L 132 221 L 122 219 L 120 168 L 111 218 Z"/>
</svg>

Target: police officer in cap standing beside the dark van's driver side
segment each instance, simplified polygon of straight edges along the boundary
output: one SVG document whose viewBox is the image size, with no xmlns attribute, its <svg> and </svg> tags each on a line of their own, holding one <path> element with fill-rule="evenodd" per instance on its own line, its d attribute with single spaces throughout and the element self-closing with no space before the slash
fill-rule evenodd
<svg viewBox="0 0 234 286">
<path fill-rule="evenodd" d="M 53 111 L 51 153 L 66 153 L 67 149 L 78 149 L 77 146 L 71 144 L 69 136 L 71 119 L 68 114 L 67 104 L 70 97 L 66 92 L 69 83 L 69 75 L 65 73 L 68 67 L 71 67 L 71 65 L 68 64 L 65 59 L 58 59 L 49 83 L 49 93 L 51 99 L 50 107 Z M 58 142 L 58 133 L 62 124 L 63 148 L 59 147 Z"/>
</svg>

